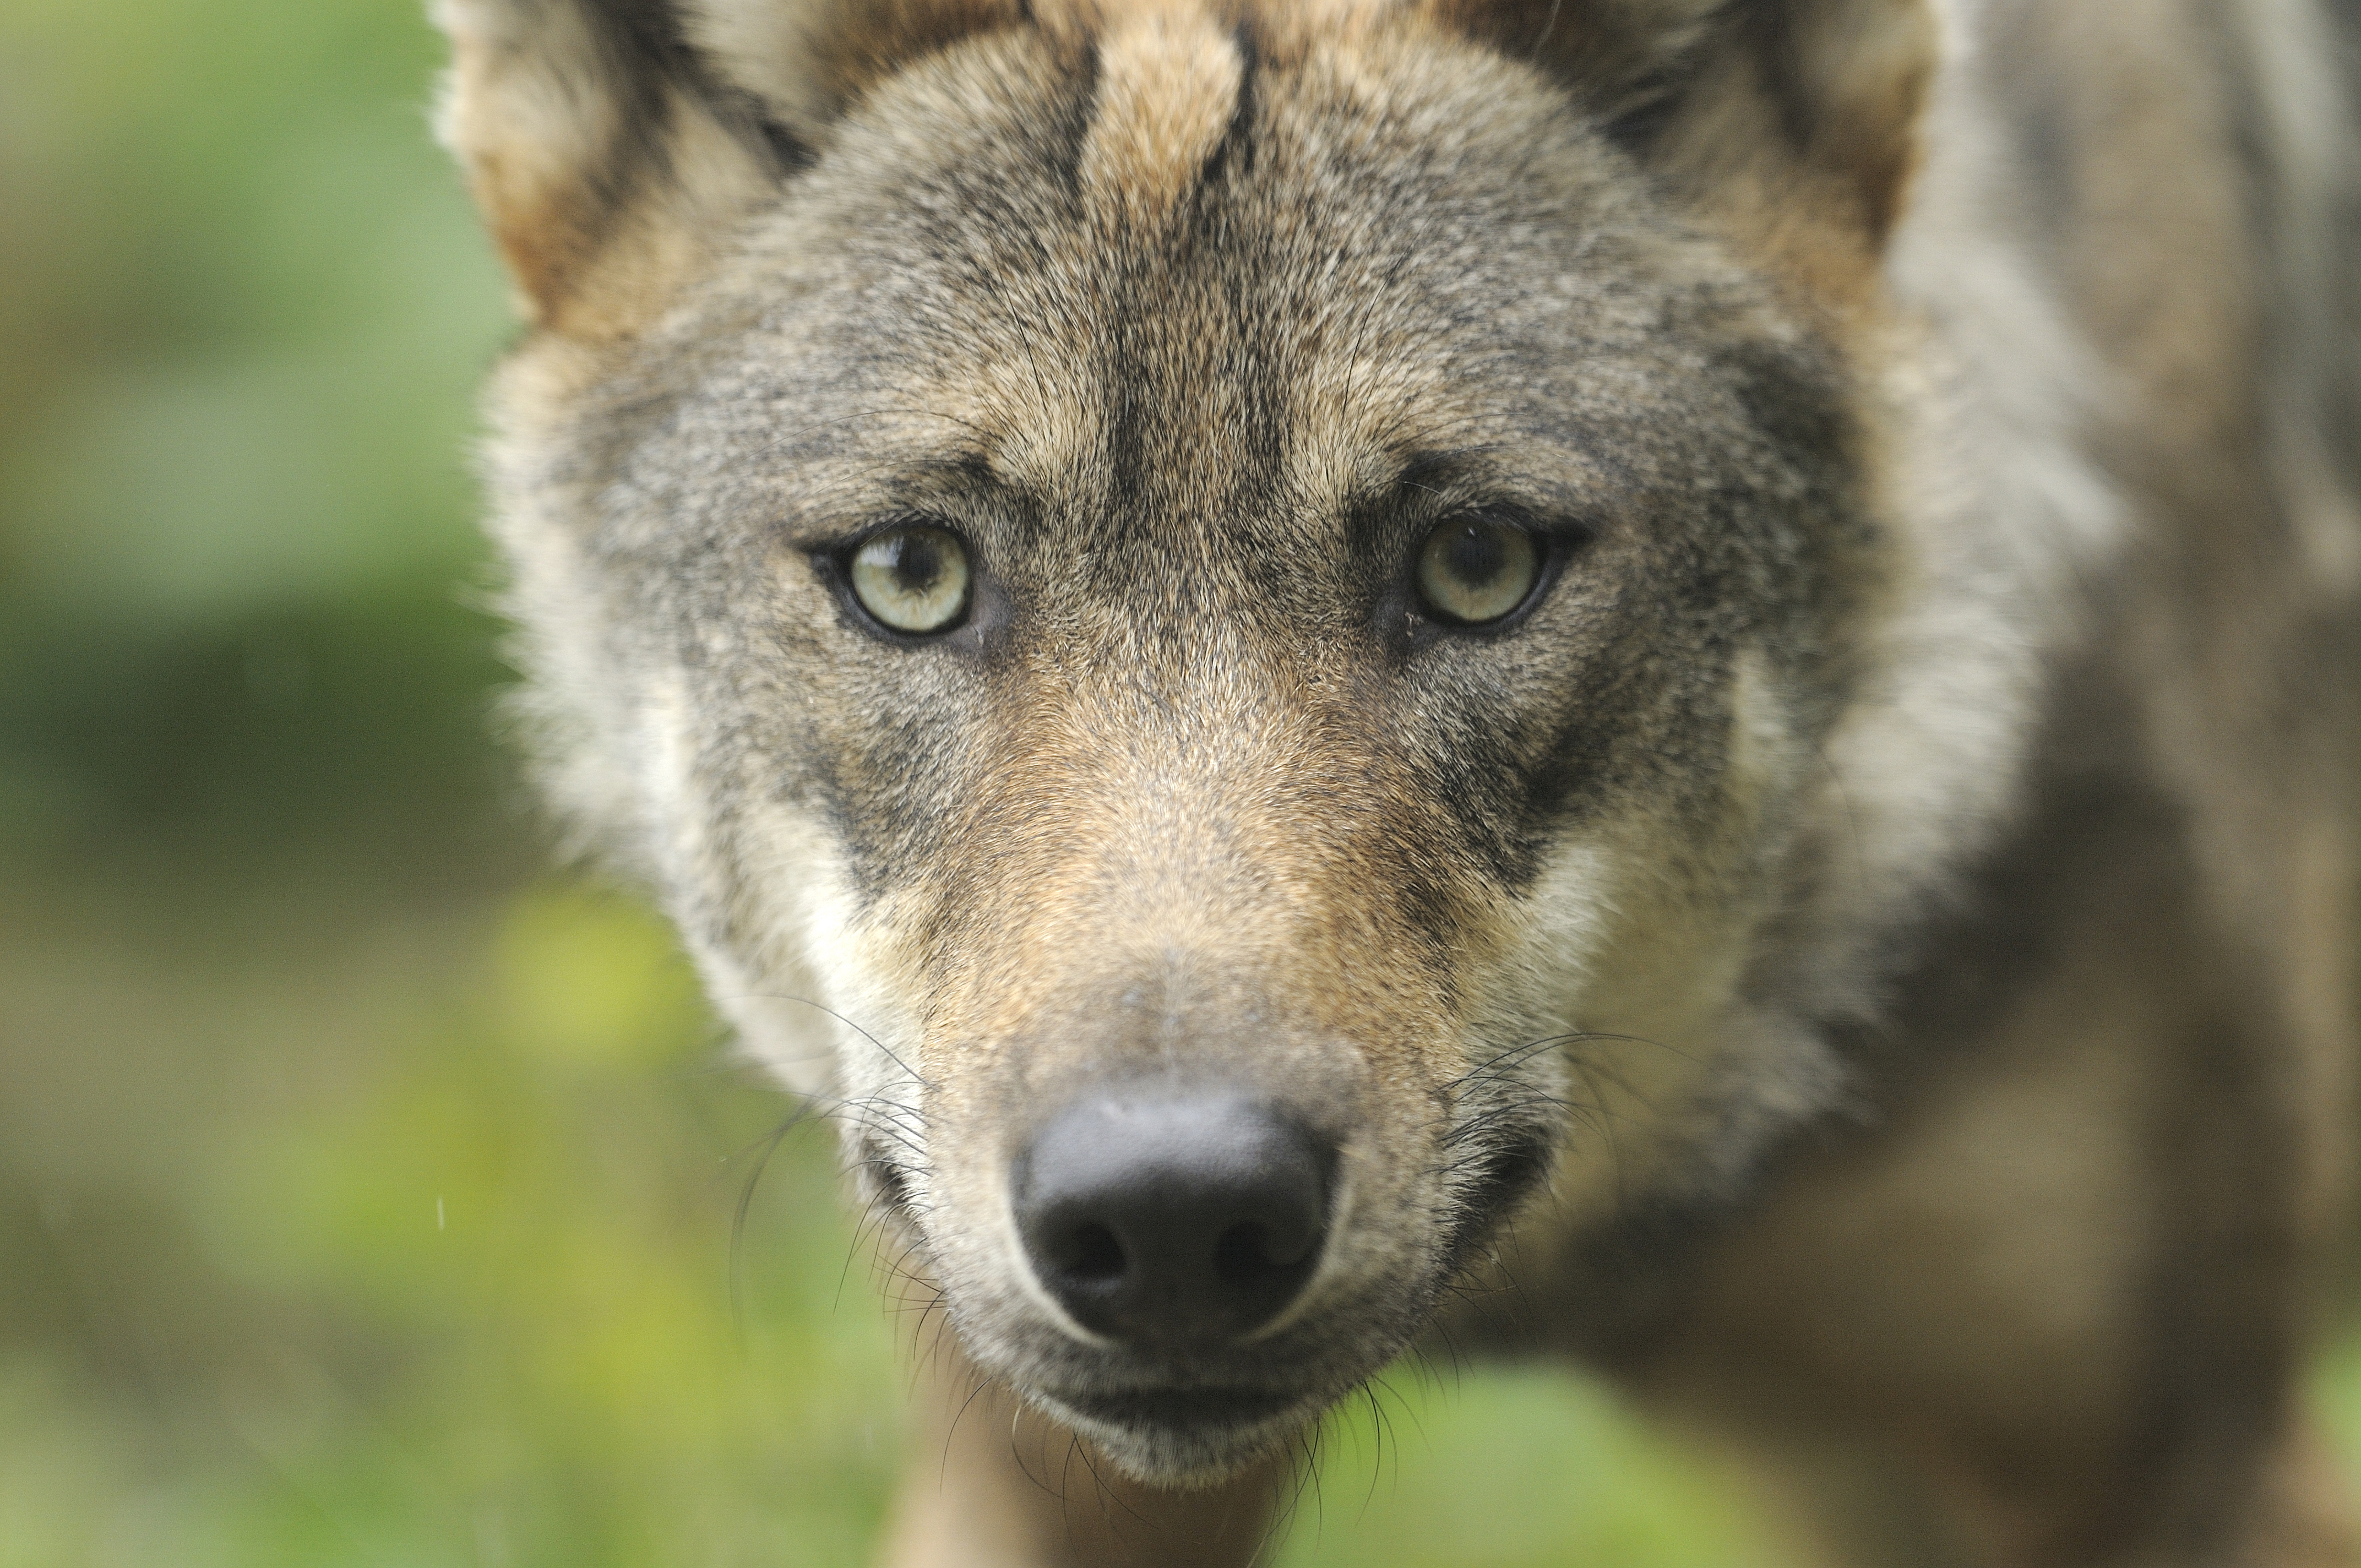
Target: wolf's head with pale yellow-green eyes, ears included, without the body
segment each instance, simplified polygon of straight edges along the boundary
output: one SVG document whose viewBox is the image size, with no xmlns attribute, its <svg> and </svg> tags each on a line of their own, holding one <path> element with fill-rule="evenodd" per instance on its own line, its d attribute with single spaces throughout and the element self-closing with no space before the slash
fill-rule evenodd
<svg viewBox="0 0 2361 1568">
<path fill-rule="evenodd" d="M 560 801 L 970 1358 L 1237 1469 L 1827 1103 L 1905 0 L 449 0 Z"/>
</svg>

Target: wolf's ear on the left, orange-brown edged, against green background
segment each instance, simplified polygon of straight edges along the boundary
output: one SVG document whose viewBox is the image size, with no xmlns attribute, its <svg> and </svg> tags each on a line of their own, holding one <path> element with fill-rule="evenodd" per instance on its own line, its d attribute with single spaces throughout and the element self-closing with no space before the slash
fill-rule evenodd
<svg viewBox="0 0 2361 1568">
<path fill-rule="evenodd" d="M 437 0 L 439 128 L 527 314 L 628 335 L 862 87 L 1018 5 Z"/>
</svg>

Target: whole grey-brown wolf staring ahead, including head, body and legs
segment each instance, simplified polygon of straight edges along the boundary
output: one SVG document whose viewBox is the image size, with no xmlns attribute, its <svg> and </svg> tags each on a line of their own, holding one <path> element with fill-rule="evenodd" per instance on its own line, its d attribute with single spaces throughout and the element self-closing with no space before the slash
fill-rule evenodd
<svg viewBox="0 0 2361 1568">
<path fill-rule="evenodd" d="M 2349 0 L 439 21 L 534 746 L 926 1292 L 890 1561 L 1244 1563 L 1426 1334 L 1825 1561 L 2354 1561 Z"/>
</svg>

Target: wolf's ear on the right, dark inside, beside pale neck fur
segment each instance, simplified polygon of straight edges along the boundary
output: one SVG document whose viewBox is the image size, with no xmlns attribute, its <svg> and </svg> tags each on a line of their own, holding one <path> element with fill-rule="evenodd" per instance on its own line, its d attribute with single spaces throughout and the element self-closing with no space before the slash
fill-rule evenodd
<svg viewBox="0 0 2361 1568">
<path fill-rule="evenodd" d="M 1766 234 L 1901 217 L 1936 64 L 1927 0 L 1435 0 L 1532 59 L 1676 191 Z M 1856 250 L 1858 253 L 1858 250 Z"/>
</svg>

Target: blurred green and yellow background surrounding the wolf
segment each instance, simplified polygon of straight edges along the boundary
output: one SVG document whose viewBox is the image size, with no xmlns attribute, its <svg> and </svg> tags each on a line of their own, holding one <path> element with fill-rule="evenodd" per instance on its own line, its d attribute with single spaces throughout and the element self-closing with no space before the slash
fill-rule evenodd
<svg viewBox="0 0 2361 1568">
<path fill-rule="evenodd" d="M 0 2 L 0 1568 L 883 1521 L 907 1384 L 829 1133 L 734 1322 L 786 1103 L 491 739 L 510 319 L 437 64 L 413 0 Z M 1280 1563 L 1771 1561 L 1596 1389 L 1388 1381 Z"/>
</svg>

